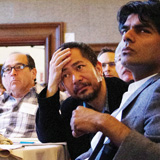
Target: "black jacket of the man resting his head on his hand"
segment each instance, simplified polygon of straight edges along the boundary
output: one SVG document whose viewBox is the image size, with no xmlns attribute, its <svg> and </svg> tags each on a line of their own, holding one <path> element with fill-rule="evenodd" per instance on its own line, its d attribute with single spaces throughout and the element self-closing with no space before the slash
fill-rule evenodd
<svg viewBox="0 0 160 160">
<path fill-rule="evenodd" d="M 109 110 L 112 113 L 119 107 L 122 95 L 127 91 L 128 85 L 118 78 L 106 78 L 105 80 Z M 79 138 L 72 136 L 70 128 L 72 111 L 83 102 L 70 97 L 60 106 L 59 92 L 52 97 L 45 97 L 46 88 L 38 98 L 39 109 L 36 116 L 38 138 L 43 143 L 66 141 L 71 159 L 75 159 L 90 148 L 90 141 L 93 137 L 93 134 L 86 134 Z M 61 115 L 59 109 L 61 109 Z"/>
</svg>

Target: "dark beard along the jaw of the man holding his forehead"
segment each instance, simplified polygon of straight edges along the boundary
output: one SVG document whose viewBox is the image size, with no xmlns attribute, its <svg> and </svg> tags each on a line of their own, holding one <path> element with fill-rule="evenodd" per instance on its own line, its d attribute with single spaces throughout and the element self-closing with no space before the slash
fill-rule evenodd
<svg viewBox="0 0 160 160">
<path fill-rule="evenodd" d="M 101 88 L 101 82 L 99 82 L 97 86 L 94 86 L 92 93 L 89 93 L 88 95 L 84 94 L 80 97 L 74 97 L 74 98 L 81 100 L 81 101 L 90 102 L 98 96 L 100 88 Z"/>
</svg>

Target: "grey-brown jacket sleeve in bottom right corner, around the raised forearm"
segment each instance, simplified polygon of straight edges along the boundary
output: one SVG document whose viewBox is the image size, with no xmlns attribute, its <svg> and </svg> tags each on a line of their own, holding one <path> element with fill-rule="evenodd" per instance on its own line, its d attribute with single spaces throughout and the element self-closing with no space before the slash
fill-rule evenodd
<svg viewBox="0 0 160 160">
<path fill-rule="evenodd" d="M 132 152 L 129 152 L 131 151 Z M 149 152 L 147 152 L 149 151 Z M 160 159 L 160 144 L 150 141 L 143 135 L 136 131 L 131 131 L 131 133 L 126 137 L 114 157 L 116 160 L 123 159 Z M 153 154 L 154 153 L 154 154 Z"/>
</svg>

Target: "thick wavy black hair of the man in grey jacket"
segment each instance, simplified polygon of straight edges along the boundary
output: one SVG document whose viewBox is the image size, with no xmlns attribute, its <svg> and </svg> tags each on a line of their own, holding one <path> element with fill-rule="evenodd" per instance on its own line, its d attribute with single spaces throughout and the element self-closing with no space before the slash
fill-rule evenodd
<svg viewBox="0 0 160 160">
<path fill-rule="evenodd" d="M 127 18 L 131 14 L 138 14 L 142 24 L 153 25 L 160 34 L 160 1 L 131 1 L 122 6 L 117 14 L 119 30 L 123 27 Z"/>
</svg>

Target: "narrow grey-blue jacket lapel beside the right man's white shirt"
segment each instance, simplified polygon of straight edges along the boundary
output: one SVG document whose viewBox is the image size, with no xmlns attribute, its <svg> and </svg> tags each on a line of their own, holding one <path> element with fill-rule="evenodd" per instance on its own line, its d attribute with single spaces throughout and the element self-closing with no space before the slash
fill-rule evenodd
<svg viewBox="0 0 160 160">
<path fill-rule="evenodd" d="M 132 94 L 128 100 L 124 103 L 124 105 L 122 106 L 121 110 L 123 111 L 124 109 L 127 108 L 127 106 L 129 106 L 129 104 L 145 89 L 147 88 L 149 85 L 151 85 L 152 83 L 154 83 L 155 81 L 157 81 L 160 78 L 160 74 L 157 74 L 155 76 L 153 76 L 152 78 L 150 78 L 149 80 L 147 80 L 140 88 L 138 88 L 134 94 Z"/>
</svg>

